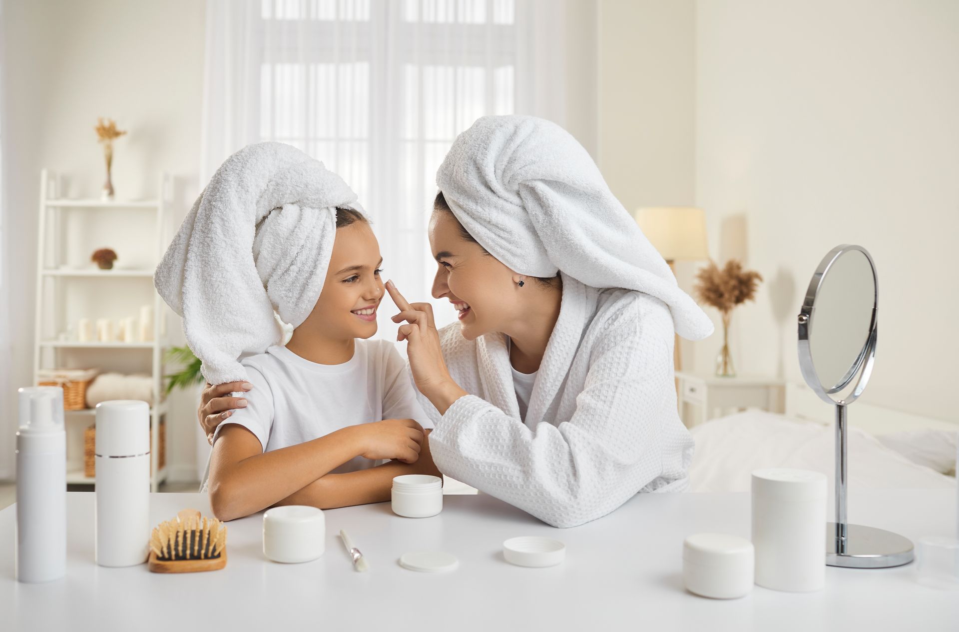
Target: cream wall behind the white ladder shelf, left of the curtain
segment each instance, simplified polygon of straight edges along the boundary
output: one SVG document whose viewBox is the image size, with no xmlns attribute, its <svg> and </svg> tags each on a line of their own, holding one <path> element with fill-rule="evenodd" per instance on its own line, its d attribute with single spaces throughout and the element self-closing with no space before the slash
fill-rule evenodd
<svg viewBox="0 0 959 632">
<path fill-rule="evenodd" d="M 23 386 L 33 379 L 39 171 L 69 175 L 68 196 L 97 196 L 104 167 L 93 126 L 98 116 L 112 117 L 129 129 L 116 145 L 117 196 L 153 197 L 157 172 L 169 171 L 179 223 L 199 193 L 205 3 L 32 0 L 4 9 L 9 223 L 2 252 L 12 270 L 11 381 Z M 177 340 L 173 317 L 171 324 Z M 0 397 L 0 479 L 12 476 L 13 400 Z M 182 396 L 172 405 L 168 446 L 183 456 L 180 471 L 192 475 L 196 414 Z"/>
</svg>

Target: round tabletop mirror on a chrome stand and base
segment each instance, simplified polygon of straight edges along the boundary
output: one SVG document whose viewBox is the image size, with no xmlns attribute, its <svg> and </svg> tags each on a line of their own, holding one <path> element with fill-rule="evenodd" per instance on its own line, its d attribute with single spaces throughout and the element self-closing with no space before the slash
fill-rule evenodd
<svg viewBox="0 0 959 632">
<path fill-rule="evenodd" d="M 835 522 L 826 525 L 826 563 L 859 569 L 908 564 L 912 542 L 875 527 L 850 525 L 847 408 L 876 359 L 876 266 L 862 246 L 832 248 L 812 275 L 799 313 L 799 365 L 806 383 L 835 407 Z"/>
</svg>

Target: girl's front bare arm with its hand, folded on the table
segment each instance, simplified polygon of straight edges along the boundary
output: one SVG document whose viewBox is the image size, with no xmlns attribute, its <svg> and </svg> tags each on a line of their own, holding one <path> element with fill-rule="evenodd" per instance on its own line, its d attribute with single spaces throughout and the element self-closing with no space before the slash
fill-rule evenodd
<svg viewBox="0 0 959 632">
<path fill-rule="evenodd" d="M 241 518 L 289 497 L 354 456 L 414 462 L 422 441 L 422 428 L 412 419 L 386 419 L 263 452 L 255 434 L 226 424 L 210 460 L 210 504 L 221 520 Z"/>
</svg>

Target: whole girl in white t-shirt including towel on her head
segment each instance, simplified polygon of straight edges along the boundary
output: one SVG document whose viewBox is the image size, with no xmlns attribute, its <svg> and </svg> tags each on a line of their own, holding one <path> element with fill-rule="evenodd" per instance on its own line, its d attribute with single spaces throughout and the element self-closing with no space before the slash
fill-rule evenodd
<svg viewBox="0 0 959 632">
<path fill-rule="evenodd" d="M 395 476 L 438 475 L 406 364 L 392 343 L 368 340 L 383 259 L 355 199 L 290 146 L 247 147 L 223 163 L 157 269 L 207 379 L 242 376 L 250 388 L 212 437 L 221 520 L 274 504 L 379 503 Z M 294 325 L 286 346 L 274 311 Z"/>
</svg>

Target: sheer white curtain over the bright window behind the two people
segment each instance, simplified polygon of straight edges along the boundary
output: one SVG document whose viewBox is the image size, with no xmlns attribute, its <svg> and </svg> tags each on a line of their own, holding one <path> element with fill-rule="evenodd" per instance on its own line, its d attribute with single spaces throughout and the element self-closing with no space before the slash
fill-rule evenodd
<svg viewBox="0 0 959 632">
<path fill-rule="evenodd" d="M 453 139 L 485 114 L 564 124 L 563 0 L 209 0 L 200 174 L 248 143 L 322 160 L 373 220 L 385 273 L 429 298 L 427 222 Z M 435 302 L 440 324 L 455 314 Z M 392 306 L 380 335 L 391 339 Z"/>
</svg>

